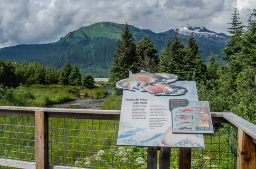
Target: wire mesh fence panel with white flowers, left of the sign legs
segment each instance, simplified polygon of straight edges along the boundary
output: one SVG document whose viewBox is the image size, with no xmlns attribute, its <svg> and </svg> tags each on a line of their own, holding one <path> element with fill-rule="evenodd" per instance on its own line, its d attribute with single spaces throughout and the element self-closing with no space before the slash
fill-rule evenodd
<svg viewBox="0 0 256 169">
<path fill-rule="evenodd" d="M 145 168 L 147 147 L 117 146 L 119 121 L 49 118 L 49 164 Z"/>
</svg>

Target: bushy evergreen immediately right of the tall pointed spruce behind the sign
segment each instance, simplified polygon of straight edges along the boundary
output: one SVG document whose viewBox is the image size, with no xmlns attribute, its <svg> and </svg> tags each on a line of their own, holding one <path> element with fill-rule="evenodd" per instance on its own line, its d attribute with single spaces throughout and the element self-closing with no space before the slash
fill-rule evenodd
<svg viewBox="0 0 256 169">
<path fill-rule="evenodd" d="M 138 70 L 144 70 L 146 72 L 155 73 L 156 66 L 158 64 L 158 50 L 156 46 L 150 42 L 149 37 L 143 37 L 141 41 L 137 43 L 136 53 L 138 56 Z"/>
</svg>

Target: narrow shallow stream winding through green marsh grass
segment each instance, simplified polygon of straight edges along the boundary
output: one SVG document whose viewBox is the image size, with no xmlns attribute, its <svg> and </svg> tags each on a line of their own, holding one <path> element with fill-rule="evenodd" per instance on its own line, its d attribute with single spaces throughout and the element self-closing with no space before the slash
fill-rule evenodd
<svg viewBox="0 0 256 169">
<path fill-rule="evenodd" d="M 105 89 L 108 91 L 108 94 L 111 94 L 113 92 L 113 89 L 111 86 L 106 86 Z M 78 108 L 78 109 L 96 109 L 102 105 L 102 103 L 106 100 L 106 98 L 100 98 L 95 99 L 91 97 L 84 97 L 80 96 L 80 93 L 74 94 L 75 97 L 79 98 L 73 101 L 61 103 L 61 104 L 54 104 L 49 105 L 50 108 Z"/>
</svg>

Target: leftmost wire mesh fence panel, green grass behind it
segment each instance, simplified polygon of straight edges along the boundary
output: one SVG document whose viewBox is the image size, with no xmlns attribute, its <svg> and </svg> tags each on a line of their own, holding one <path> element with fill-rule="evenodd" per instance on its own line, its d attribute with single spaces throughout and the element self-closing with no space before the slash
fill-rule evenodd
<svg viewBox="0 0 256 169">
<path fill-rule="evenodd" d="M 0 115 L 0 158 L 35 162 L 34 117 Z"/>
</svg>

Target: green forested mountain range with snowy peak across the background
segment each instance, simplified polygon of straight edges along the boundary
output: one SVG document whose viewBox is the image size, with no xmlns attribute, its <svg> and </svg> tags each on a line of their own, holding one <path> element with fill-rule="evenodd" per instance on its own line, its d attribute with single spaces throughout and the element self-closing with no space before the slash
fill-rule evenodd
<svg viewBox="0 0 256 169">
<path fill-rule="evenodd" d="M 108 77 L 109 69 L 113 64 L 111 52 L 115 51 L 117 40 L 121 39 L 120 35 L 123 28 L 124 24 L 112 22 L 95 23 L 72 31 L 54 43 L 22 44 L 2 48 L 0 49 L 0 59 L 9 59 L 16 62 L 40 62 L 45 66 L 51 65 L 56 66 L 56 68 L 62 68 L 69 60 L 71 64 L 76 63 L 82 75 L 89 73 L 93 77 Z M 182 39 L 184 44 L 189 37 L 189 34 L 182 34 L 179 29 L 171 29 L 164 33 L 154 33 L 149 29 L 139 29 L 131 25 L 129 25 L 129 29 L 133 32 L 135 41 L 148 36 L 156 45 L 159 53 L 167 39 L 174 36 L 173 32 Z M 199 34 L 196 39 L 200 50 L 202 50 L 202 57 L 205 60 L 207 60 L 206 58 L 211 51 L 214 54 L 220 54 L 219 50 L 224 48 L 225 42 L 221 42 L 221 40 L 218 41 L 211 38 L 207 41 L 207 37 L 205 38 L 203 35 L 201 35 L 200 39 L 198 38 Z M 226 39 L 223 40 L 225 41 Z"/>
</svg>

